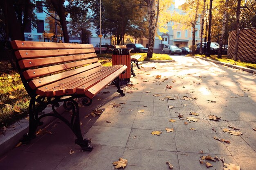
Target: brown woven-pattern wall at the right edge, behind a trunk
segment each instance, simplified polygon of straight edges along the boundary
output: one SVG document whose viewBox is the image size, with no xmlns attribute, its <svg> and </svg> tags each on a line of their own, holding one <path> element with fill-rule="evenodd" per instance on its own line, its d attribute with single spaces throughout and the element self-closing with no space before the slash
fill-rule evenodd
<svg viewBox="0 0 256 170">
<path fill-rule="evenodd" d="M 229 32 L 227 57 L 232 59 L 236 43 L 236 30 Z M 238 41 L 238 60 L 256 63 L 256 27 L 240 29 Z"/>
</svg>

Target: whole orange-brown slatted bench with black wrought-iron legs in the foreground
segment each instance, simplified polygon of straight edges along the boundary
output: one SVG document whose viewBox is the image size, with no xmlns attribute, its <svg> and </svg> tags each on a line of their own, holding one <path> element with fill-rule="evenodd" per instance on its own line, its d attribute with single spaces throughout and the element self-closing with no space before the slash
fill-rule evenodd
<svg viewBox="0 0 256 170">
<path fill-rule="evenodd" d="M 24 135 L 22 142 L 27 144 L 36 137 L 36 129 L 42 125 L 41 118 L 54 116 L 70 127 L 77 137 L 76 144 L 83 150 L 92 150 L 90 140 L 83 139 L 81 134 L 79 106 L 75 99 L 83 98 L 83 105 L 89 106 L 92 98 L 111 82 L 124 96 L 119 75 L 127 66 L 103 67 L 91 44 L 15 40 L 7 43 L 6 48 L 15 56 L 20 78 L 31 96 L 29 133 Z M 56 111 L 60 102 L 64 102 L 65 109 L 72 111 L 70 121 Z M 38 116 L 49 104 L 52 104 L 53 113 Z"/>
</svg>

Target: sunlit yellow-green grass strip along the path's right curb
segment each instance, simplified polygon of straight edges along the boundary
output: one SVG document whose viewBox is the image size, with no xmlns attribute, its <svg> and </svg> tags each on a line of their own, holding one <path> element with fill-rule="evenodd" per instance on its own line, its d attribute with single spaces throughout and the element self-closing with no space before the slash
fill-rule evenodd
<svg viewBox="0 0 256 170">
<path fill-rule="evenodd" d="M 234 61 L 232 59 L 228 59 L 226 55 L 222 55 L 221 59 L 218 59 L 217 55 L 211 55 L 211 57 L 205 57 L 205 55 L 200 55 L 200 54 L 195 54 L 195 56 L 198 57 L 204 57 L 207 59 L 212 59 L 212 60 L 216 60 L 216 61 L 220 61 L 223 63 L 229 63 L 229 64 L 234 64 L 234 65 L 239 65 L 242 67 L 246 67 L 246 68 L 252 68 L 252 69 L 256 69 L 256 63 L 246 63 L 246 62 L 242 62 L 242 61 Z"/>
</svg>

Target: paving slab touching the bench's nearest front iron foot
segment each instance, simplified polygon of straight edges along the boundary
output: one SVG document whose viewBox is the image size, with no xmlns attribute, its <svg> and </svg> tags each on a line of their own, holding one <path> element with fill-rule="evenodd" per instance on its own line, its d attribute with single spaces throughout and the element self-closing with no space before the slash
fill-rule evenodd
<svg viewBox="0 0 256 170">
<path fill-rule="evenodd" d="M 92 146 L 96 144 L 125 147 L 130 131 L 129 128 L 92 126 L 83 138 L 91 138 Z"/>
</svg>

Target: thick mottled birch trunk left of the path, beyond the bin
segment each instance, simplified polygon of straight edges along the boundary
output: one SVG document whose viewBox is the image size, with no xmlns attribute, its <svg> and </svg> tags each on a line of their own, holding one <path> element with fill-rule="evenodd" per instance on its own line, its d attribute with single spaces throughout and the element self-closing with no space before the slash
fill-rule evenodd
<svg viewBox="0 0 256 170">
<path fill-rule="evenodd" d="M 148 54 L 147 58 L 152 58 L 153 56 L 153 48 L 154 48 L 154 41 L 155 41 L 155 26 L 156 26 L 156 11 L 155 11 L 155 0 L 148 0 L 147 1 L 148 7 Z"/>
</svg>

